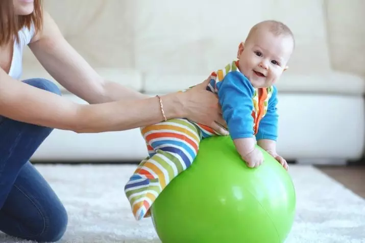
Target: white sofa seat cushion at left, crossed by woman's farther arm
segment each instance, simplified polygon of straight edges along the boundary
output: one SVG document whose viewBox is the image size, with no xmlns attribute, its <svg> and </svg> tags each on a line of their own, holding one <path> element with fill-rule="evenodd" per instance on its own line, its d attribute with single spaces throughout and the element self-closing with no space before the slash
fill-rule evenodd
<svg viewBox="0 0 365 243">
<path fill-rule="evenodd" d="M 133 69 L 118 69 L 118 68 L 95 68 L 102 77 L 113 82 L 117 82 L 128 88 L 141 91 L 142 76 L 141 73 Z M 56 80 L 48 74 L 45 69 L 39 67 L 26 67 L 23 70 L 21 79 L 42 77 L 48 80 L 52 80 L 58 87 L 60 87 L 63 93 L 69 93 L 64 87 L 62 87 Z"/>
</svg>

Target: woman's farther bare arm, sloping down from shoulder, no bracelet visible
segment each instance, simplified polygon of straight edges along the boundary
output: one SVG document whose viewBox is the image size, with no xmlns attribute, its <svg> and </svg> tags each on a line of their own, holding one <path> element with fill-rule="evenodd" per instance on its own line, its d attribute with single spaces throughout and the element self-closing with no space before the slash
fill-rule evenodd
<svg viewBox="0 0 365 243">
<path fill-rule="evenodd" d="M 105 80 L 64 39 L 52 17 L 44 12 L 43 30 L 29 44 L 35 57 L 58 83 L 89 103 L 147 98 L 137 91 Z"/>
</svg>

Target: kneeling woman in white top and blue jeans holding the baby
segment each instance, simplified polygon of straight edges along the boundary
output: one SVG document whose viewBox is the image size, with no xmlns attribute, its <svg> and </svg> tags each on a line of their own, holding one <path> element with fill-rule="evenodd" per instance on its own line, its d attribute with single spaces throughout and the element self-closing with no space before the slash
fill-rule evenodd
<svg viewBox="0 0 365 243">
<path fill-rule="evenodd" d="M 62 98 L 45 79 L 19 82 L 26 45 L 63 87 L 89 104 Z M 28 161 L 54 128 L 117 131 L 186 117 L 226 134 L 206 82 L 150 98 L 104 80 L 65 41 L 41 0 L 0 1 L 0 67 L 0 231 L 15 237 L 57 241 L 65 232 L 62 203 Z"/>
</svg>

